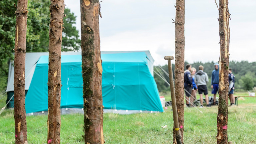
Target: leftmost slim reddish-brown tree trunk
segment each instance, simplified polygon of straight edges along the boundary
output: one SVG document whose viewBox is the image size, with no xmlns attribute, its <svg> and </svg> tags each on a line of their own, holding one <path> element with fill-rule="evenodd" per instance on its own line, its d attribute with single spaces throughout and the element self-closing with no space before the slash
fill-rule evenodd
<svg viewBox="0 0 256 144">
<path fill-rule="evenodd" d="M 16 34 L 14 55 L 14 123 L 15 143 L 27 144 L 25 108 L 25 57 L 28 0 L 19 0 L 16 10 Z"/>
</svg>

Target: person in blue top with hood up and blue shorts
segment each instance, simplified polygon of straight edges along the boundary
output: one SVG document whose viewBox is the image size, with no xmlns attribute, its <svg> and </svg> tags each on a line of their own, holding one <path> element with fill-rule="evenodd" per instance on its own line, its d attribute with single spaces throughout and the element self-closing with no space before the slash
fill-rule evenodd
<svg viewBox="0 0 256 144">
<path fill-rule="evenodd" d="M 212 71 L 212 94 L 213 94 L 213 105 L 216 105 L 216 94 L 219 93 L 219 64 L 214 64 L 215 69 Z"/>
</svg>

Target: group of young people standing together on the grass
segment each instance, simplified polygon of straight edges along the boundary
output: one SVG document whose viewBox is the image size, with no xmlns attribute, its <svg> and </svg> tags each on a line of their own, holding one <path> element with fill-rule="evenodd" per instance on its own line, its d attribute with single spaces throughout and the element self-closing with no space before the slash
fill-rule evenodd
<svg viewBox="0 0 256 144">
<path fill-rule="evenodd" d="M 184 89 L 186 95 L 186 105 L 188 107 L 193 107 L 194 99 L 196 98 L 196 92 L 198 91 L 200 96 L 200 108 L 203 107 L 203 93 L 205 95 L 206 107 L 211 107 L 209 105 L 208 98 L 208 90 L 206 84 L 209 82 L 208 75 L 204 71 L 204 67 L 202 65 L 199 66 L 199 71 L 196 72 L 196 68 L 191 67 L 190 64 L 186 65 L 186 70 L 184 72 Z M 232 74 L 232 69 L 229 68 L 228 74 L 228 82 L 229 82 L 229 99 L 230 106 L 234 106 L 235 98 L 234 98 L 234 82 L 235 76 Z M 214 64 L 214 70 L 212 71 L 211 77 L 211 88 L 213 94 L 213 104 L 216 105 L 216 94 L 219 93 L 219 64 Z M 190 98 L 190 100 L 189 100 Z"/>
</svg>

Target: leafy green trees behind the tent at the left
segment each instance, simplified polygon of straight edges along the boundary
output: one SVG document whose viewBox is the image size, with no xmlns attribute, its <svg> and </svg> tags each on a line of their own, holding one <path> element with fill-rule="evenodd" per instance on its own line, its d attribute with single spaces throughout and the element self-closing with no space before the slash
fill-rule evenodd
<svg viewBox="0 0 256 144">
<path fill-rule="evenodd" d="M 8 62 L 14 60 L 16 0 L 0 1 L 0 90 L 7 85 Z M 28 0 L 26 52 L 47 52 L 49 46 L 49 0 Z M 76 16 L 65 8 L 62 51 L 81 50 L 81 39 L 76 29 Z"/>
</svg>

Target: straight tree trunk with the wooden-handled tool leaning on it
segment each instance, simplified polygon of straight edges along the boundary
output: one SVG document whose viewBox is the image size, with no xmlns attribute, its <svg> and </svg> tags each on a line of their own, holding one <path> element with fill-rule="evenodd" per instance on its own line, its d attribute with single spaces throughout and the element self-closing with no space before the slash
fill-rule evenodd
<svg viewBox="0 0 256 144">
<path fill-rule="evenodd" d="M 181 141 L 183 143 L 184 123 L 184 49 L 185 49 L 185 1 L 176 0 L 175 18 L 175 96 L 180 125 Z M 174 129 L 174 128 L 173 128 Z M 175 130 L 173 130 L 173 143 L 176 144 Z"/>
</svg>

